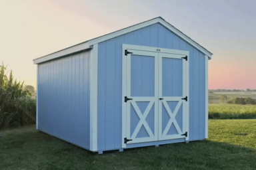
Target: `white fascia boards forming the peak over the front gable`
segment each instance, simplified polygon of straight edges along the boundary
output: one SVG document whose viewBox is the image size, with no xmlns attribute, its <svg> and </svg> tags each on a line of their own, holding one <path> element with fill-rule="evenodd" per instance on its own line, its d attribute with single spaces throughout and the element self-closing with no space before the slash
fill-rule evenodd
<svg viewBox="0 0 256 170">
<path fill-rule="evenodd" d="M 93 44 L 97 44 L 99 42 L 103 42 L 106 41 L 108 39 L 113 39 L 115 37 L 118 37 L 120 35 L 124 35 L 126 33 L 130 33 L 131 31 L 135 31 L 137 29 L 142 29 L 143 27 L 147 27 L 149 25 L 153 25 L 155 23 L 161 23 L 161 25 L 165 26 L 167 29 L 169 29 L 170 31 L 172 31 L 173 33 L 175 33 L 176 35 L 178 35 L 179 37 L 181 37 L 181 39 L 183 39 L 184 41 L 188 42 L 189 44 L 191 44 L 193 47 L 197 48 L 198 50 L 200 50 L 201 52 L 203 52 L 203 54 L 207 55 L 209 57 L 209 59 L 211 59 L 211 56 L 213 54 L 211 54 L 211 52 L 207 51 L 205 48 L 201 47 L 199 44 L 197 44 L 195 41 L 193 41 L 192 39 L 190 39 L 189 37 L 187 37 L 186 35 L 184 35 L 183 33 L 181 33 L 180 31 L 178 31 L 177 29 L 175 29 L 175 27 L 173 27 L 172 25 L 170 25 L 169 23 L 167 23 L 166 21 L 164 21 L 161 18 L 157 18 L 157 19 L 152 19 L 150 21 L 147 21 L 145 23 L 141 23 L 138 25 L 135 25 L 133 27 L 128 27 L 127 29 L 123 29 L 121 31 L 117 31 L 115 33 L 111 33 L 109 35 L 105 35 L 103 37 L 99 37 L 97 39 L 93 39 L 91 41 L 89 41 L 89 46 L 93 45 Z"/>
</svg>

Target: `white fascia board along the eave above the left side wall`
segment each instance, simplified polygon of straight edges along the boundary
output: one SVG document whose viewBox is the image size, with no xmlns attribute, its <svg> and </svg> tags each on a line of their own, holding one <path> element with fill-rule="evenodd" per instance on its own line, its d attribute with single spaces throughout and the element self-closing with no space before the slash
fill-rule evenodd
<svg viewBox="0 0 256 170">
<path fill-rule="evenodd" d="M 86 49 L 89 49 L 89 48 L 90 48 L 89 43 L 88 42 L 83 42 L 81 44 L 77 44 L 75 46 L 71 46 L 69 48 L 59 50 L 59 51 L 54 52 L 52 54 L 48 54 L 46 56 L 36 58 L 35 60 L 33 60 L 33 62 L 34 62 L 34 64 L 39 64 L 39 63 L 45 62 L 47 60 L 53 60 L 55 58 L 59 58 L 61 56 L 66 56 L 68 54 L 72 54 L 74 52 L 78 52 L 78 51 L 81 51 L 81 50 L 86 50 Z"/>
</svg>

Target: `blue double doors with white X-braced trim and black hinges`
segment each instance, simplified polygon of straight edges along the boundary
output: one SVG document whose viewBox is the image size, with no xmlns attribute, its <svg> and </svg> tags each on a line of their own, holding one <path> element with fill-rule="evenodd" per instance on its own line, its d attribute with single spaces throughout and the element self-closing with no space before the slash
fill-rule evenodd
<svg viewBox="0 0 256 170">
<path fill-rule="evenodd" d="M 185 56 L 132 49 L 123 53 L 123 147 L 130 143 L 188 139 Z"/>
</svg>

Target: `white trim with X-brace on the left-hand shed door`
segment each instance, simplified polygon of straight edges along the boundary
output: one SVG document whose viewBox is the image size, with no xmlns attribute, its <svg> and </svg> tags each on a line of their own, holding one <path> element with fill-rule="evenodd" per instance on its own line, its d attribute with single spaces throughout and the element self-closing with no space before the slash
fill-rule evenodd
<svg viewBox="0 0 256 170">
<path fill-rule="evenodd" d="M 148 52 L 148 51 L 141 51 L 141 50 L 129 50 L 129 52 L 133 52 L 133 55 L 141 55 L 141 56 L 152 56 L 154 57 L 155 60 L 155 92 L 154 96 L 152 97 L 134 97 L 131 96 L 131 54 L 127 54 L 125 56 L 127 58 L 127 63 L 126 63 L 126 96 L 127 98 L 133 98 L 133 100 L 128 100 L 126 103 L 126 137 L 127 139 L 132 139 L 132 141 L 129 141 L 130 143 L 139 143 L 139 142 L 146 142 L 146 141 L 157 141 L 158 138 L 158 129 L 157 129 L 157 124 L 158 124 L 158 116 L 157 116 L 157 99 L 158 99 L 158 53 L 157 52 Z M 149 105 L 147 106 L 144 114 L 141 113 L 139 110 L 139 107 L 137 106 L 136 102 L 149 102 Z M 149 114 L 149 111 L 151 110 L 152 106 L 155 105 L 155 110 L 154 110 L 154 118 L 155 118 L 155 124 L 154 124 L 154 129 L 151 131 L 149 128 L 146 118 L 147 115 Z M 137 116 L 139 117 L 139 124 L 137 124 L 137 127 L 131 134 L 131 106 L 135 109 L 135 112 Z M 139 129 L 141 129 L 141 126 L 144 126 L 146 129 L 147 133 L 149 134 L 149 137 L 141 137 L 137 138 L 137 133 L 139 132 Z"/>
</svg>

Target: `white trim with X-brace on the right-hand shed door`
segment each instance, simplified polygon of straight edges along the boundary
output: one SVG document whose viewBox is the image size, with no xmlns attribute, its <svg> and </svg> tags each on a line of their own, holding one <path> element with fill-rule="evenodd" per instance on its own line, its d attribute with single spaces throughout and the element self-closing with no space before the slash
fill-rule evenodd
<svg viewBox="0 0 256 170">
<path fill-rule="evenodd" d="M 178 138 L 185 138 L 185 140 L 189 140 L 189 54 L 184 54 L 186 52 L 183 52 L 183 54 L 159 54 L 159 98 L 163 98 L 163 100 L 159 100 L 159 140 L 166 140 L 166 139 L 178 139 Z M 185 57 L 187 56 L 187 60 L 182 59 L 182 66 L 183 66 L 183 96 L 163 96 L 162 92 L 162 58 L 177 58 L 177 59 L 181 59 L 181 57 Z M 181 98 L 185 98 L 187 96 L 187 102 L 185 100 L 182 100 Z M 169 106 L 167 104 L 168 102 L 171 101 L 175 101 L 178 102 L 175 110 L 173 112 L 171 112 L 171 110 L 169 109 Z M 165 107 L 165 109 L 167 110 L 167 113 L 170 116 L 170 120 L 167 123 L 167 126 L 165 127 L 164 131 L 162 129 L 162 103 L 163 106 Z M 175 116 L 177 114 L 177 112 L 179 111 L 179 108 L 183 107 L 183 131 L 181 131 L 181 129 L 179 128 L 179 125 L 177 124 L 176 120 L 175 120 Z M 177 132 L 179 134 L 177 135 L 167 135 L 167 132 L 169 130 L 169 128 L 171 128 L 171 124 L 173 124 L 175 126 L 175 128 L 177 129 Z M 162 132 L 163 131 L 163 132 Z M 185 137 L 184 135 L 181 135 L 183 133 L 185 133 L 187 131 L 187 137 Z"/>
</svg>

